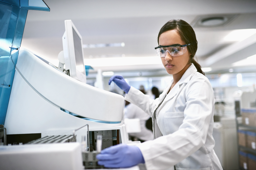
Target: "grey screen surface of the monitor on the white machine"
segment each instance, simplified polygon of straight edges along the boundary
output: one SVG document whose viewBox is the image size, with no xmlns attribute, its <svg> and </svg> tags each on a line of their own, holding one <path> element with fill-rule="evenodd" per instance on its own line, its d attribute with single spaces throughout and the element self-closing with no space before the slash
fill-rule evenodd
<svg viewBox="0 0 256 170">
<path fill-rule="evenodd" d="M 81 73 L 84 73 L 84 57 L 83 57 L 83 49 L 82 49 L 82 44 L 81 44 L 81 39 L 75 32 L 74 28 L 73 30 L 73 39 L 74 39 L 74 48 L 75 48 L 75 60 L 76 60 L 76 70 L 80 71 Z"/>
</svg>

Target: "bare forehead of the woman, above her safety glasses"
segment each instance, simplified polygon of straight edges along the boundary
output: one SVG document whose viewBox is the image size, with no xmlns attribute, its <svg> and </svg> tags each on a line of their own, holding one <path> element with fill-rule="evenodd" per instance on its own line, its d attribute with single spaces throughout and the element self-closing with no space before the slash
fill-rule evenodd
<svg viewBox="0 0 256 170">
<path fill-rule="evenodd" d="M 180 44 L 184 45 L 185 42 L 181 40 L 180 35 L 176 30 L 170 30 L 162 33 L 159 37 L 159 45 L 172 45 Z"/>
</svg>

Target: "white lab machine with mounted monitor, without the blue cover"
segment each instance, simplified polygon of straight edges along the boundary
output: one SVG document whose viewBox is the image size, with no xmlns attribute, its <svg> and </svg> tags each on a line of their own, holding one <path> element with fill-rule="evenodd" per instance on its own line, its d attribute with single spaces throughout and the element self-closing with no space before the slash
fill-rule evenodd
<svg viewBox="0 0 256 170">
<path fill-rule="evenodd" d="M 58 68 L 27 49 L 19 49 L 4 124 L 7 140 L 8 135 L 13 140 L 14 135 L 19 136 L 12 142 L 26 142 L 22 134 L 68 135 L 88 124 L 93 148 L 94 133 L 99 132 L 109 141 L 107 146 L 127 143 L 122 122 L 124 98 L 85 84 L 82 38 L 71 20 L 65 21 L 62 41 Z M 85 132 L 77 134 L 78 141 L 81 134 Z"/>
</svg>

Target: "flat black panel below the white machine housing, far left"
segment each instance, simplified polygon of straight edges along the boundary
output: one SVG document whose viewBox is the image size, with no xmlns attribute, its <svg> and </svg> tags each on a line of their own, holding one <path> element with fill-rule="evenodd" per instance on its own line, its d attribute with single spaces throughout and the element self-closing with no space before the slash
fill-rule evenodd
<svg viewBox="0 0 256 170">
<path fill-rule="evenodd" d="M 12 144 L 13 143 L 23 143 L 26 144 L 32 140 L 40 139 L 41 138 L 41 133 L 31 133 L 31 134 L 13 134 L 13 135 L 7 135 L 6 137 L 6 142 L 7 144 Z"/>
</svg>

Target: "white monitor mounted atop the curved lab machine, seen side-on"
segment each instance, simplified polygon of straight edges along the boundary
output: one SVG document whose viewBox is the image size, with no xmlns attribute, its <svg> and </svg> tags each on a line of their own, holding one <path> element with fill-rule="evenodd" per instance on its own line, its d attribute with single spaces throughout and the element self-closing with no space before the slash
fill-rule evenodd
<svg viewBox="0 0 256 170">
<path fill-rule="evenodd" d="M 62 37 L 65 70 L 70 76 L 86 83 L 83 41 L 71 20 L 65 20 L 65 33 Z"/>
</svg>

